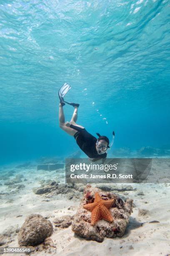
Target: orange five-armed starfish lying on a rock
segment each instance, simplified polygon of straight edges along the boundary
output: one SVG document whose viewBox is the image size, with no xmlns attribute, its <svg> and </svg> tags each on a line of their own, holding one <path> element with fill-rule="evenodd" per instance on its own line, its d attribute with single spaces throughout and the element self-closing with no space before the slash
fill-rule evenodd
<svg viewBox="0 0 170 256">
<path fill-rule="evenodd" d="M 110 209 L 110 207 L 112 206 L 114 201 L 115 201 L 114 199 L 102 200 L 100 198 L 99 193 L 95 193 L 95 201 L 93 203 L 83 205 L 83 207 L 86 210 L 89 210 L 90 212 L 92 212 L 92 215 L 91 215 L 91 225 L 92 226 L 95 225 L 95 223 L 98 220 L 102 220 L 102 219 L 110 221 L 110 222 L 113 221 L 111 212 L 108 209 Z"/>
</svg>

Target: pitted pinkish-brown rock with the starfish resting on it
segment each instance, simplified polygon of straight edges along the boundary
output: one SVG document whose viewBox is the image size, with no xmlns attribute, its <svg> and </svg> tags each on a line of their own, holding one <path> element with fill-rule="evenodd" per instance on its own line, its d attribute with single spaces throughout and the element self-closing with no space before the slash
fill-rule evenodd
<svg viewBox="0 0 170 256">
<path fill-rule="evenodd" d="M 91 212 L 86 210 L 83 205 L 94 202 L 96 192 L 99 193 L 102 200 L 114 199 L 114 203 L 109 209 L 113 221 L 108 222 L 106 220 L 98 220 L 97 223 L 92 226 Z M 130 214 L 133 212 L 132 207 L 132 199 L 127 199 L 126 202 L 124 202 L 118 195 L 87 185 L 84 190 L 80 207 L 74 216 L 72 231 L 87 240 L 95 240 L 98 242 L 102 242 L 105 237 L 122 237 L 125 233 L 126 226 L 129 223 Z"/>
</svg>

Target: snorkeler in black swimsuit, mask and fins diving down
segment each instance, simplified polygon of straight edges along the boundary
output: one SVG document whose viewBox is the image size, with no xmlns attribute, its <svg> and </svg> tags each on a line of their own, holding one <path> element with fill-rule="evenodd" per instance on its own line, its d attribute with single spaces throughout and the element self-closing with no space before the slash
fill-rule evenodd
<svg viewBox="0 0 170 256">
<path fill-rule="evenodd" d="M 70 85 L 65 83 L 62 85 L 62 87 L 58 92 L 59 99 L 60 99 L 60 105 L 59 105 L 60 128 L 64 130 L 66 133 L 70 134 L 71 136 L 74 136 L 77 142 L 77 145 L 89 158 L 96 159 L 96 160 L 106 158 L 107 157 L 106 151 L 108 148 L 110 148 L 109 139 L 106 136 L 100 136 L 99 133 L 96 133 L 98 138 L 95 138 L 90 133 L 88 133 L 83 126 L 76 124 L 77 111 L 78 111 L 79 104 L 66 102 L 64 100 L 64 96 L 70 90 L 70 88 L 71 88 Z M 70 122 L 65 122 L 65 117 L 63 112 L 63 106 L 65 105 L 65 103 L 72 105 L 74 107 L 74 113 L 72 115 Z M 112 143 L 113 143 L 114 137 L 115 137 L 115 133 L 113 132 Z"/>
</svg>

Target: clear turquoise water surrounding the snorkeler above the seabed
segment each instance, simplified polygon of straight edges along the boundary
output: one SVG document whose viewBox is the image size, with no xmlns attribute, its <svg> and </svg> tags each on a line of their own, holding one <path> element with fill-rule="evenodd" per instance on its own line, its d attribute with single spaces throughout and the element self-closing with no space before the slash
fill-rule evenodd
<svg viewBox="0 0 170 256">
<path fill-rule="evenodd" d="M 78 124 L 115 131 L 113 156 L 170 149 L 169 45 L 168 0 L 1 0 L 1 164 L 78 149 L 58 126 L 64 82 Z M 64 110 L 69 121 L 73 108 Z"/>
</svg>

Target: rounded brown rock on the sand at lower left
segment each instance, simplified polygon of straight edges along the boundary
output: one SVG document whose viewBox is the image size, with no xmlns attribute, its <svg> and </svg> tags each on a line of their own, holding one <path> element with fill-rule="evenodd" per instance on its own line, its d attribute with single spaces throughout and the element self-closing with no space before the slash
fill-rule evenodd
<svg viewBox="0 0 170 256">
<path fill-rule="evenodd" d="M 35 246 L 45 238 L 52 235 L 53 227 L 49 220 L 42 215 L 31 214 L 26 219 L 18 233 L 18 243 L 20 246 Z"/>
</svg>

